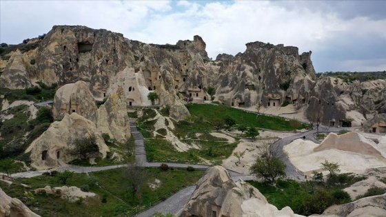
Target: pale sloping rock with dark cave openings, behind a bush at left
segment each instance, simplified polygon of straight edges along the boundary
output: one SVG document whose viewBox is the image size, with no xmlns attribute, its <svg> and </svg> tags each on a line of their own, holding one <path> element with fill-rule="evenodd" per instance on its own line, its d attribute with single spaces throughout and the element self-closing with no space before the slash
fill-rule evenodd
<svg viewBox="0 0 386 217">
<path fill-rule="evenodd" d="M 99 155 L 104 158 L 109 148 L 96 130 L 95 123 L 77 113 L 72 113 L 65 114 L 61 121 L 52 123 L 48 130 L 26 149 L 26 153 L 31 152 L 32 167 L 52 168 L 60 165 L 59 160 L 68 163 L 78 158 L 70 154 L 70 149 L 75 139 L 84 136 L 95 136 Z"/>
</svg>

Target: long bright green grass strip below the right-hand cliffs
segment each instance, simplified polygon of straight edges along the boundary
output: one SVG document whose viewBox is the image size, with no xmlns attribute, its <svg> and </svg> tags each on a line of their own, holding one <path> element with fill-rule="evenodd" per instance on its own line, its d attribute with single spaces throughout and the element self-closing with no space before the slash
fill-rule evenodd
<svg viewBox="0 0 386 217">
<path fill-rule="evenodd" d="M 224 119 L 227 116 L 233 118 L 236 124 L 267 130 L 292 131 L 307 127 L 307 125 L 298 121 L 286 121 L 285 118 L 276 116 L 257 115 L 223 105 L 187 104 L 186 107 L 192 116 L 202 118 L 205 128 L 210 128 L 211 130 L 213 130 L 211 123 L 214 120 Z"/>
</svg>

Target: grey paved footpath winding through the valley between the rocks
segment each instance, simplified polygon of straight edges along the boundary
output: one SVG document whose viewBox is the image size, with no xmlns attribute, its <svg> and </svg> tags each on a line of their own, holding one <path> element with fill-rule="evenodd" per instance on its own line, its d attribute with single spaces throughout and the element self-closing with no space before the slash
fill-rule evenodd
<svg viewBox="0 0 386 217">
<path fill-rule="evenodd" d="M 143 141 L 143 136 L 141 132 L 138 131 L 136 128 L 136 121 L 130 121 L 130 130 L 132 132 L 132 135 L 134 136 L 134 144 L 135 144 L 135 159 L 136 163 L 141 165 L 142 167 L 160 167 L 162 163 L 160 162 L 148 162 L 146 160 L 146 152 L 145 152 L 145 144 Z M 338 132 L 342 130 L 341 128 L 330 128 L 327 130 L 325 127 L 319 127 L 318 132 Z M 297 169 L 290 163 L 290 159 L 287 157 L 287 155 L 283 152 L 283 147 L 285 145 L 290 144 L 292 141 L 298 138 L 305 138 L 306 140 L 313 141 L 315 143 L 320 143 L 320 141 L 316 140 L 314 138 L 314 134 L 316 133 L 316 130 L 309 130 L 307 132 L 303 132 L 301 134 L 296 134 L 293 136 L 287 136 L 285 138 L 282 138 L 278 141 L 276 141 L 273 145 L 278 146 L 278 150 L 280 150 L 279 156 L 281 156 L 281 160 L 287 165 L 285 168 L 285 172 L 287 174 L 288 178 L 297 179 L 297 180 L 304 180 L 303 176 L 297 171 Z M 304 136 L 304 137 L 303 137 Z M 12 174 L 12 178 L 30 178 L 34 176 L 39 176 L 43 174 L 44 172 L 50 172 L 51 170 L 57 170 L 60 172 L 63 172 L 64 170 L 70 170 L 75 173 L 89 173 L 89 172 L 96 172 L 96 171 L 103 171 L 107 169 L 116 169 L 120 167 L 125 167 L 125 165 L 112 165 L 112 166 L 105 166 L 105 167 L 81 167 L 76 165 L 67 165 L 61 161 L 59 161 L 62 167 L 55 168 L 55 169 L 45 169 L 40 171 L 30 171 L 30 172 L 20 172 L 17 174 Z M 195 169 L 207 169 L 211 167 L 211 165 L 198 165 L 198 164 L 185 164 L 185 163 L 166 163 L 169 167 L 176 167 L 176 168 L 186 168 L 186 167 L 194 167 Z M 233 172 L 231 170 L 228 170 L 230 177 L 232 180 L 256 180 L 254 176 L 246 176 L 245 174 L 239 174 L 237 172 Z M 148 217 L 152 216 L 154 212 L 158 211 L 163 214 L 172 213 L 176 214 L 177 211 L 179 211 L 190 199 L 192 196 L 194 189 L 196 189 L 196 185 L 192 185 L 190 187 L 186 187 L 185 189 L 181 189 L 179 192 L 176 192 L 176 194 L 170 196 L 165 201 L 150 207 L 150 209 L 143 211 L 140 214 L 136 214 L 136 216 L 140 217 Z"/>
</svg>

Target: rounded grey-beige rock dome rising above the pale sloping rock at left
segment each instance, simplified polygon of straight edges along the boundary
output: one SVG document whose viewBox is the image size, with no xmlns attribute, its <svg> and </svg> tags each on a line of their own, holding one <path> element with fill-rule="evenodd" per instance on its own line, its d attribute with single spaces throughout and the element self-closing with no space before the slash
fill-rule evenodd
<svg viewBox="0 0 386 217">
<path fill-rule="evenodd" d="M 65 114 L 77 113 L 96 123 L 96 110 L 94 96 L 84 81 L 60 87 L 52 105 L 52 115 L 55 120 L 61 120 Z"/>
</svg>

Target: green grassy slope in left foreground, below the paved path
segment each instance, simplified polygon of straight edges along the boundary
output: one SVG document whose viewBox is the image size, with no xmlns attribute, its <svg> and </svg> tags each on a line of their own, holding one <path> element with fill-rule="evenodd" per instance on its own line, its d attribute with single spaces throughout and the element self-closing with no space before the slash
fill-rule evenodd
<svg viewBox="0 0 386 217">
<path fill-rule="evenodd" d="M 37 189 L 50 185 L 51 187 L 63 186 L 52 176 L 37 176 L 34 178 L 18 178 L 14 180 L 15 184 L 10 186 L 0 182 L 0 187 L 8 196 L 19 198 L 32 211 L 41 216 L 125 216 L 125 213 L 132 211 L 135 207 L 144 207 L 154 204 L 157 201 L 164 200 L 165 196 L 170 195 L 176 190 L 182 189 L 196 183 L 203 170 L 187 172 L 186 169 L 169 169 L 167 172 L 161 172 L 159 168 L 145 169 L 148 174 L 148 180 L 141 188 L 142 203 L 139 203 L 137 197 L 132 198 L 126 191 L 127 181 L 123 178 L 122 169 L 110 169 L 101 172 L 92 172 L 90 176 L 96 178 L 98 185 L 89 185 L 90 192 L 98 195 L 96 198 L 88 198 L 83 203 L 70 203 L 68 200 L 59 196 L 46 194 L 25 194 L 29 189 L 17 185 L 24 183 L 29 185 L 30 189 Z M 148 183 L 154 182 L 154 178 L 161 180 L 161 187 L 151 189 Z M 85 174 L 74 174 L 68 179 L 67 186 L 77 186 L 90 183 L 90 178 Z M 101 203 L 101 198 L 106 196 L 107 203 Z"/>
</svg>

